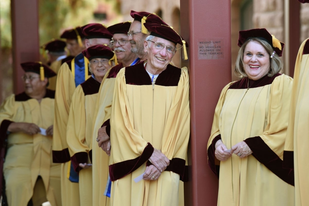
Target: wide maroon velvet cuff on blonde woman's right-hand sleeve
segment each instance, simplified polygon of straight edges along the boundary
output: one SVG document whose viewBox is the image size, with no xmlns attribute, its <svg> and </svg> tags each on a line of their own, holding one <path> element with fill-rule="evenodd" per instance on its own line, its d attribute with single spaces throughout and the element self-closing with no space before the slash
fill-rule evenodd
<svg viewBox="0 0 309 206">
<path fill-rule="evenodd" d="M 294 170 L 283 167 L 283 161 L 271 150 L 261 137 L 244 140 L 252 150 L 252 155 L 280 179 L 294 186 Z"/>
</svg>

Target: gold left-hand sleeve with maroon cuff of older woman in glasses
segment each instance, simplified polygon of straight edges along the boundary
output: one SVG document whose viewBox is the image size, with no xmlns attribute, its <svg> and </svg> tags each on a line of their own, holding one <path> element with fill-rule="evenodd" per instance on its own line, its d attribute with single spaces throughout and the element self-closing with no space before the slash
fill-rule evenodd
<svg viewBox="0 0 309 206">
<path fill-rule="evenodd" d="M 79 172 L 82 168 L 79 163 L 87 163 L 89 147 L 86 144 L 86 109 L 85 94 L 79 85 L 74 91 L 68 124 L 66 128 L 66 141 L 74 170 Z"/>
</svg>

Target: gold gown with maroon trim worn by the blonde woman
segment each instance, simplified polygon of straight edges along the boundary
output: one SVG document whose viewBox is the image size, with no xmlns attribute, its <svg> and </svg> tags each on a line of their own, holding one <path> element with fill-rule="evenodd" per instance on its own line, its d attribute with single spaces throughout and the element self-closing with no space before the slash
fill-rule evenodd
<svg viewBox="0 0 309 206">
<path fill-rule="evenodd" d="M 208 163 L 219 177 L 218 205 L 294 204 L 294 173 L 282 161 L 292 82 L 275 74 L 252 81 L 249 89 L 248 78 L 223 88 L 208 142 Z M 245 141 L 253 153 L 219 162 L 214 156 L 219 139 L 228 149 Z"/>
</svg>

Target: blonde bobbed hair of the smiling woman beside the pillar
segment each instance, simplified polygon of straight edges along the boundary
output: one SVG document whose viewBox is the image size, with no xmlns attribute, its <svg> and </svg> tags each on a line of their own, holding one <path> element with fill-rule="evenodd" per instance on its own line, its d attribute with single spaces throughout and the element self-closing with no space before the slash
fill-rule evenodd
<svg viewBox="0 0 309 206">
<path fill-rule="evenodd" d="M 269 54 L 269 61 L 270 61 L 270 69 L 268 72 L 268 76 L 272 77 L 273 75 L 277 74 L 278 72 L 281 72 L 283 69 L 283 62 L 279 58 L 278 54 L 275 53 L 273 58 L 270 58 L 270 55 L 273 53 L 273 47 L 265 40 L 261 40 L 259 38 L 251 38 L 247 40 L 239 49 L 236 63 L 235 63 L 235 68 L 234 68 L 234 73 L 237 77 L 243 78 L 247 77 L 248 75 L 246 74 L 244 68 L 243 68 L 243 53 L 245 51 L 245 48 L 247 44 L 251 41 L 255 41 L 259 44 L 261 44 L 267 53 Z"/>
</svg>

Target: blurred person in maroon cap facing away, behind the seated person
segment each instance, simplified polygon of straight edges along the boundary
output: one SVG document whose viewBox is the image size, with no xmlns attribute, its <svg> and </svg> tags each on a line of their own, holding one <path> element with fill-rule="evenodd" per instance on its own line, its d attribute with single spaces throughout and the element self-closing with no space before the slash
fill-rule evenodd
<svg viewBox="0 0 309 206">
<path fill-rule="evenodd" d="M 74 32 L 73 35 L 76 35 L 76 33 Z M 43 49 L 43 54 L 47 55 L 48 65 L 50 69 L 52 69 L 56 74 L 58 73 L 60 66 L 64 62 L 74 58 L 73 56 L 66 56 L 66 42 L 62 40 L 51 40 L 41 46 L 41 48 Z M 47 88 L 50 90 L 55 90 L 56 81 L 57 75 L 49 78 L 49 86 Z"/>
</svg>

